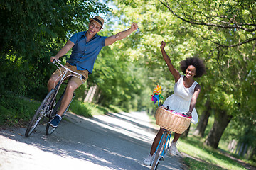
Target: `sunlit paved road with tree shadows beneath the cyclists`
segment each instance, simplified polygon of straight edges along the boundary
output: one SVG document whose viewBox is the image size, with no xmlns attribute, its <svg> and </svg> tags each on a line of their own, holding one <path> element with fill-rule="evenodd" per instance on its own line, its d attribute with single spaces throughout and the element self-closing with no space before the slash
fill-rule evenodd
<svg viewBox="0 0 256 170">
<path fill-rule="evenodd" d="M 110 113 L 83 118 L 68 113 L 53 135 L 39 125 L 30 137 L 25 128 L 0 130 L 0 169 L 149 170 L 156 128 L 146 113 Z M 159 170 L 181 169 L 181 157 L 167 155 Z"/>
</svg>

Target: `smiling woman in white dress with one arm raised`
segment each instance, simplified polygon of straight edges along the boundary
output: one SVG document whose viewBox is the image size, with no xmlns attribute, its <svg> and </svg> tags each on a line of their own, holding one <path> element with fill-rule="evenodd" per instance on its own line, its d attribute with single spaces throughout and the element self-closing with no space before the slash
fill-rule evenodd
<svg viewBox="0 0 256 170">
<path fill-rule="evenodd" d="M 164 47 L 166 42 L 161 42 L 161 54 L 164 57 L 164 61 L 171 74 L 175 79 L 174 94 L 166 98 L 164 101 L 164 108 L 169 110 L 174 110 L 179 113 L 187 113 L 188 117 L 192 116 L 191 123 L 196 124 L 198 122 L 198 115 L 196 113 L 195 105 L 196 99 L 201 91 L 201 86 L 193 79 L 196 77 L 201 77 L 206 72 L 206 67 L 203 61 L 197 57 L 187 58 L 180 62 L 181 71 L 185 75 L 181 75 L 177 69 L 174 68 L 169 56 L 166 54 Z M 164 132 L 164 128 L 160 128 L 159 132 L 156 134 L 154 142 L 151 146 L 151 151 L 149 156 L 144 160 L 144 164 L 147 166 L 151 165 L 154 152 L 161 139 L 161 135 Z M 175 133 L 174 140 L 171 142 L 171 147 L 169 153 L 175 155 L 177 151 L 176 143 L 181 134 Z"/>
</svg>

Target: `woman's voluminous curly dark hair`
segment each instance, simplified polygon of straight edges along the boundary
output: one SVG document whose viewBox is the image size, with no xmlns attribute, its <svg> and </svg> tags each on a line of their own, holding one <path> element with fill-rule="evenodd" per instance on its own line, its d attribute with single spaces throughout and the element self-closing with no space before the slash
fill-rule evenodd
<svg viewBox="0 0 256 170">
<path fill-rule="evenodd" d="M 196 77 L 201 77 L 203 74 L 206 73 L 206 66 L 203 63 L 203 60 L 199 59 L 198 57 L 188 57 L 186 60 L 182 60 L 180 62 L 181 64 L 181 71 L 186 74 L 186 69 L 188 66 L 193 65 L 193 67 L 196 67 Z"/>
</svg>

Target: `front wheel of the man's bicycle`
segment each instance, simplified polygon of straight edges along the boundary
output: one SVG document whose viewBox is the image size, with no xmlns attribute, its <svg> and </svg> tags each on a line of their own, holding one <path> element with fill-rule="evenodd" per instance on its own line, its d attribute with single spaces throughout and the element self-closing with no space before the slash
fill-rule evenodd
<svg viewBox="0 0 256 170">
<path fill-rule="evenodd" d="M 31 120 L 31 122 L 28 125 L 28 128 L 26 129 L 25 132 L 25 136 L 29 137 L 29 135 L 31 135 L 31 133 L 33 132 L 33 130 L 36 129 L 36 126 L 38 125 L 38 123 L 40 122 L 41 118 L 43 118 L 43 116 L 46 115 L 46 113 L 48 111 L 50 111 L 50 105 L 51 105 L 51 101 L 53 99 L 55 95 L 55 90 L 52 89 L 46 96 L 46 98 L 43 99 L 43 102 L 41 103 L 41 105 L 39 106 L 38 110 L 36 111 L 35 115 L 33 115 L 33 118 Z"/>
</svg>

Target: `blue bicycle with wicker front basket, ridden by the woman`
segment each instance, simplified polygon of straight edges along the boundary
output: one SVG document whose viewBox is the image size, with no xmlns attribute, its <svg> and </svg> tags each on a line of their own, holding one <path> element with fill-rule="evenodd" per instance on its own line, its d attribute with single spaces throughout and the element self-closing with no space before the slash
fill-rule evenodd
<svg viewBox="0 0 256 170">
<path fill-rule="evenodd" d="M 191 118 L 186 118 L 180 116 L 181 113 L 176 113 L 176 111 L 166 111 L 166 109 L 157 108 L 156 110 L 156 124 L 164 128 L 164 133 L 161 136 L 161 140 L 156 147 L 156 152 L 154 154 L 151 170 L 156 170 L 159 166 L 160 161 L 164 161 L 164 157 L 168 149 L 170 149 L 170 139 L 171 132 L 178 132 L 182 134 L 190 125 Z M 186 115 L 186 114 L 183 114 Z M 186 115 L 188 116 L 188 115 Z M 162 117 L 164 119 L 162 119 Z"/>
</svg>

